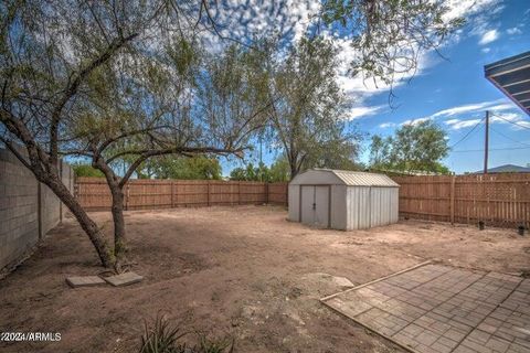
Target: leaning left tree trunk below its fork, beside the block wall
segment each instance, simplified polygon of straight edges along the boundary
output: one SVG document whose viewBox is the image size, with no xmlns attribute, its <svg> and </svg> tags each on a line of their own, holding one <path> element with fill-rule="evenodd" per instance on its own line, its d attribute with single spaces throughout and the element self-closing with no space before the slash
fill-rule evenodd
<svg viewBox="0 0 530 353">
<path fill-rule="evenodd" d="M 57 178 L 49 178 L 41 181 L 46 184 L 72 212 L 72 214 L 77 220 L 83 231 L 85 231 L 85 233 L 88 235 L 88 238 L 96 248 L 102 265 L 108 268 L 114 267 L 115 257 L 108 247 L 105 235 L 99 229 L 97 224 L 92 221 L 91 217 L 88 217 L 85 210 L 81 206 L 77 200 L 75 200 L 74 195 L 72 195 L 68 189 L 66 189 L 66 186 Z"/>
</svg>

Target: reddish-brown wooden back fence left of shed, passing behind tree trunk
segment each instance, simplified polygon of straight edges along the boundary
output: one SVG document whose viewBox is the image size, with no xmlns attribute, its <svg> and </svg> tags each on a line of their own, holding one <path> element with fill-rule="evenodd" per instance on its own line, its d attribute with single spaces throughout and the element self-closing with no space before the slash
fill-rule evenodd
<svg viewBox="0 0 530 353">
<path fill-rule="evenodd" d="M 125 210 L 213 205 L 287 205 L 286 183 L 216 180 L 130 180 L 124 189 Z M 75 196 L 88 211 L 109 210 L 110 191 L 103 178 L 77 178 Z"/>
</svg>

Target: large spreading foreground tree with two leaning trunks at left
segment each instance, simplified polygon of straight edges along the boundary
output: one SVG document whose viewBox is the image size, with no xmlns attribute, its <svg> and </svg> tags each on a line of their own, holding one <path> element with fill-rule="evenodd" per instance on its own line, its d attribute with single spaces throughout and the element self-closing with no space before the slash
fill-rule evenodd
<svg viewBox="0 0 530 353">
<path fill-rule="evenodd" d="M 124 185 L 157 156 L 241 156 L 267 99 L 252 49 L 204 57 L 206 0 L 0 3 L 0 140 L 88 235 L 102 264 L 126 263 Z M 205 13 L 206 12 L 206 13 Z M 254 56 L 253 56 L 254 55 Z M 15 143 L 25 147 L 20 153 Z M 112 193 L 114 247 L 62 183 L 62 156 L 87 158 Z M 113 165 L 124 163 L 124 173 Z"/>
</svg>

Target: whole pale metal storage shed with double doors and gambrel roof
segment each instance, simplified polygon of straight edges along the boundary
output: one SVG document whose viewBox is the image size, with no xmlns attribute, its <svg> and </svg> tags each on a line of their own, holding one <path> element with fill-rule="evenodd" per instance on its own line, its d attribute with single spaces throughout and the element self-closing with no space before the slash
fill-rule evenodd
<svg viewBox="0 0 530 353">
<path fill-rule="evenodd" d="M 312 169 L 289 183 L 289 220 L 342 231 L 396 223 L 399 188 L 384 174 Z"/>
</svg>

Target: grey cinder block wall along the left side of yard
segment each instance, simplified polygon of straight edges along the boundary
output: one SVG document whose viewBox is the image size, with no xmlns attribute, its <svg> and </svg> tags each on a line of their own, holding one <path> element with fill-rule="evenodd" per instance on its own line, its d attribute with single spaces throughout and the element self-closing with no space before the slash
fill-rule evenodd
<svg viewBox="0 0 530 353">
<path fill-rule="evenodd" d="M 74 173 L 66 163 L 62 170 L 63 182 L 72 192 Z M 0 270 L 17 263 L 65 212 L 53 192 L 0 147 Z"/>
</svg>

